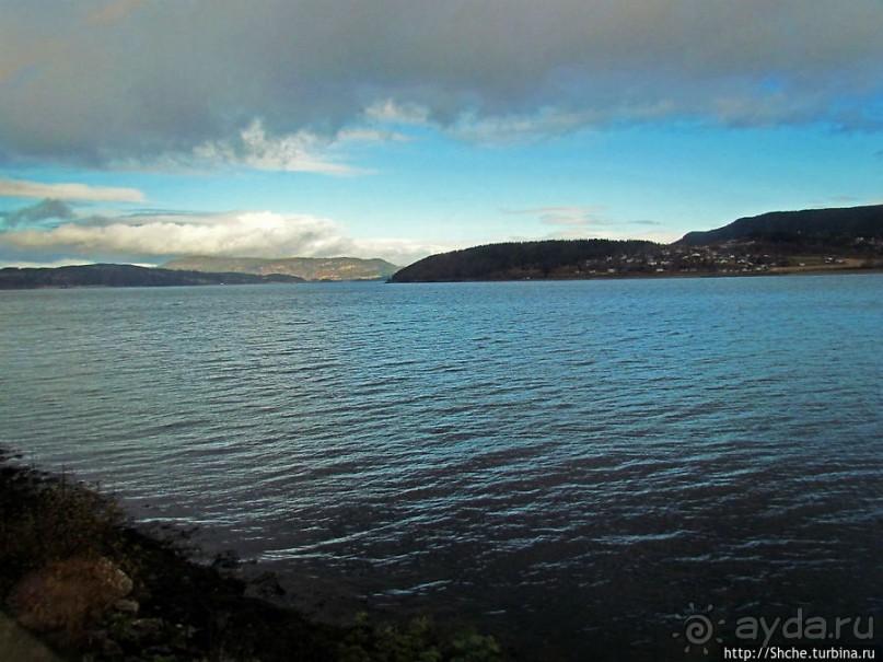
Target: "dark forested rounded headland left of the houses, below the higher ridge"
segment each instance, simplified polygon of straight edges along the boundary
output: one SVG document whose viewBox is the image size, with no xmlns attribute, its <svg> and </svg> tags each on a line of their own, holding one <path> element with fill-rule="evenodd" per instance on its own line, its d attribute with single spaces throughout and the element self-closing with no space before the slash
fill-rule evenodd
<svg viewBox="0 0 883 662">
<path fill-rule="evenodd" d="M 588 262 L 654 251 L 644 241 L 572 240 L 512 242 L 430 255 L 397 271 L 391 282 L 524 280 L 579 277 Z"/>
</svg>

